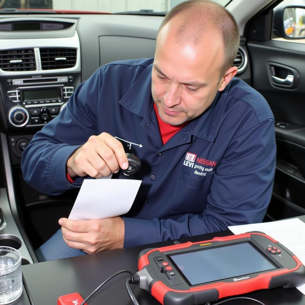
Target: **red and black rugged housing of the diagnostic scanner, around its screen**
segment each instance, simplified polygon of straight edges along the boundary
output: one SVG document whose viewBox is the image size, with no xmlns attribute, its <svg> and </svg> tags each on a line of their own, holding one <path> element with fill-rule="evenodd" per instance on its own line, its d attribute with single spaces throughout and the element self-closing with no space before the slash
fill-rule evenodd
<svg viewBox="0 0 305 305">
<path fill-rule="evenodd" d="M 192 285 L 172 259 L 177 253 L 191 253 L 245 242 L 250 243 L 274 267 L 271 270 L 233 274 L 230 278 Z M 203 261 L 202 264 L 204 263 Z M 226 263 L 230 264 L 230 261 Z M 148 290 L 164 305 L 202 304 L 254 290 L 292 288 L 305 283 L 305 267 L 301 261 L 278 241 L 261 232 L 145 249 L 139 254 L 138 269 L 139 286 Z"/>
</svg>

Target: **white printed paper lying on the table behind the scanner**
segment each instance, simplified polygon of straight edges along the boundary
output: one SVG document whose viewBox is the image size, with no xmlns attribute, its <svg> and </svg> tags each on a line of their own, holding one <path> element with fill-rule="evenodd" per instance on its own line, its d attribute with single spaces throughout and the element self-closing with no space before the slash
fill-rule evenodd
<svg viewBox="0 0 305 305">
<path fill-rule="evenodd" d="M 234 234 L 261 231 L 280 242 L 305 264 L 305 223 L 299 218 L 228 227 Z M 305 294 L 305 284 L 297 287 Z"/>
</svg>

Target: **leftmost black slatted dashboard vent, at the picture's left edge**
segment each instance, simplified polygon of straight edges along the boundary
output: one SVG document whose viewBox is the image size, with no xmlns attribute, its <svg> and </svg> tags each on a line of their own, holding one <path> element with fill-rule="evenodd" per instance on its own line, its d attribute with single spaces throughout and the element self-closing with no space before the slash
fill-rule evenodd
<svg viewBox="0 0 305 305">
<path fill-rule="evenodd" d="M 34 49 L 0 50 L 0 69 L 3 71 L 36 70 Z"/>
</svg>

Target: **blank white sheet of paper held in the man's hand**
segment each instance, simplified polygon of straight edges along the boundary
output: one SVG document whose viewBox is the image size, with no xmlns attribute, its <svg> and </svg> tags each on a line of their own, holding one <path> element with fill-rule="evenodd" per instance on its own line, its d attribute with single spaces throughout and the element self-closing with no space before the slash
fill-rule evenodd
<svg viewBox="0 0 305 305">
<path fill-rule="evenodd" d="M 141 182 L 132 179 L 85 179 L 69 219 L 108 218 L 127 213 Z"/>
</svg>

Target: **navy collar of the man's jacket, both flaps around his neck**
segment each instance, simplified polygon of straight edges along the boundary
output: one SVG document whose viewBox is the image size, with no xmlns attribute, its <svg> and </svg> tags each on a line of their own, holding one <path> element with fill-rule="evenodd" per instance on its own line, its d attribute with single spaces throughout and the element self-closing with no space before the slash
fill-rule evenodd
<svg viewBox="0 0 305 305">
<path fill-rule="evenodd" d="M 151 111 L 154 111 L 151 97 L 151 73 L 152 64 L 145 68 L 119 102 L 120 105 L 143 118 L 147 118 Z M 227 99 L 227 91 L 227 88 L 224 91 L 218 91 L 210 107 L 182 129 L 185 142 L 191 142 L 192 135 L 214 142 L 219 119 Z"/>
</svg>

